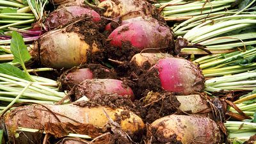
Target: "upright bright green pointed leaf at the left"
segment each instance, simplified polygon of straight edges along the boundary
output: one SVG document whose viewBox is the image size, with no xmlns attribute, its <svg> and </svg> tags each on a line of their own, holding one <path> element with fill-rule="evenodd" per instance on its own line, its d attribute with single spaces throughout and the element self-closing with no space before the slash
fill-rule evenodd
<svg viewBox="0 0 256 144">
<path fill-rule="evenodd" d="M 24 63 L 31 58 L 22 36 L 16 31 L 12 32 L 11 51 L 14 57 L 13 63 L 25 65 Z"/>
</svg>

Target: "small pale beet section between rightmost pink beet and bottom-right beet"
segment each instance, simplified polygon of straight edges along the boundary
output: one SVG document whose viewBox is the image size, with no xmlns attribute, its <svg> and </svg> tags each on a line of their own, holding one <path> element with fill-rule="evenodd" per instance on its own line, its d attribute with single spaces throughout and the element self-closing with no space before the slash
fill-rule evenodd
<svg viewBox="0 0 256 144">
<path fill-rule="evenodd" d="M 176 98 L 180 102 L 179 109 L 182 111 L 195 114 L 209 108 L 200 95 L 176 95 Z"/>
</svg>

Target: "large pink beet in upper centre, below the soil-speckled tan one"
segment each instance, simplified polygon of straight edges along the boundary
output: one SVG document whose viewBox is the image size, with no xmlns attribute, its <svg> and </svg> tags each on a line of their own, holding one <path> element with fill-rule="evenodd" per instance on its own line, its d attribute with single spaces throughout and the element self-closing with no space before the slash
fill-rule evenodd
<svg viewBox="0 0 256 144">
<path fill-rule="evenodd" d="M 149 17 L 119 26 L 108 36 L 108 39 L 115 47 L 122 47 L 124 42 L 129 42 L 138 49 L 173 48 L 170 28 Z"/>
</svg>

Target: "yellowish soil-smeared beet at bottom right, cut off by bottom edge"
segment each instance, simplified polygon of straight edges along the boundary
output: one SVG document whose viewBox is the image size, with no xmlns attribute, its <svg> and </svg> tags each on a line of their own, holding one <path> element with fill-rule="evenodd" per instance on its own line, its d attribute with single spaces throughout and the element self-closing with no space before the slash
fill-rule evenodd
<svg viewBox="0 0 256 144">
<path fill-rule="evenodd" d="M 153 122 L 147 138 L 152 143 L 221 143 L 221 132 L 209 118 L 170 115 Z"/>
</svg>

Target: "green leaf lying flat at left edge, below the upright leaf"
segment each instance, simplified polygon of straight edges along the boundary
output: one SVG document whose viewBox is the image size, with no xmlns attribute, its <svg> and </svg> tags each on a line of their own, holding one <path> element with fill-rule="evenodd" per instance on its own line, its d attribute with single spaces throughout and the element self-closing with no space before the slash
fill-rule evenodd
<svg viewBox="0 0 256 144">
<path fill-rule="evenodd" d="M 10 65 L 9 63 L 0 64 L 0 73 L 8 74 L 14 77 L 19 77 L 20 79 L 26 79 L 29 81 L 29 77 L 26 75 L 25 72 L 23 72 L 22 70 L 13 65 Z"/>
</svg>

